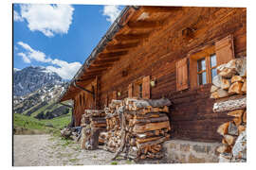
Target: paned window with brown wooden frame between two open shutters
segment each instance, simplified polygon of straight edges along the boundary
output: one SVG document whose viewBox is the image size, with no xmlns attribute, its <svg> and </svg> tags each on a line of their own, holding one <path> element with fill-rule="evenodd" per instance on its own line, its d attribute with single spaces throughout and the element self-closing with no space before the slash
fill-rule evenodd
<svg viewBox="0 0 256 170">
<path fill-rule="evenodd" d="M 216 55 L 211 54 L 197 60 L 197 84 L 204 85 L 210 83 L 212 78 L 217 75 Z"/>
</svg>

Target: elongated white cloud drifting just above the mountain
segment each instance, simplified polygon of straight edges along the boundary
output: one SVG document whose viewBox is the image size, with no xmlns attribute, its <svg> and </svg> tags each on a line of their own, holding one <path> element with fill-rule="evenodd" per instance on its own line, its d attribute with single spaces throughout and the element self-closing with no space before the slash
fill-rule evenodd
<svg viewBox="0 0 256 170">
<path fill-rule="evenodd" d="M 34 50 L 25 42 L 18 42 L 25 49 L 25 53 L 18 53 L 19 56 L 23 58 L 23 60 L 27 63 L 31 62 L 31 59 L 34 59 L 39 62 L 45 62 L 49 64 L 46 66 L 46 69 L 56 72 L 59 76 L 64 79 L 71 79 L 77 71 L 80 69 L 82 64 L 80 62 L 66 62 L 61 59 L 46 59 L 46 54 Z"/>
</svg>

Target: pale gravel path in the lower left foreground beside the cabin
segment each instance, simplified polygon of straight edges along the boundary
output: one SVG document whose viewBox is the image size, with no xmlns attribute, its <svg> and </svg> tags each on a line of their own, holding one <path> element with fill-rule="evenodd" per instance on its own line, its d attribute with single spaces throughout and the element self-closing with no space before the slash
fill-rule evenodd
<svg viewBox="0 0 256 170">
<path fill-rule="evenodd" d="M 14 135 L 14 166 L 63 166 L 91 164 L 133 164 L 134 161 L 111 161 L 108 151 L 81 150 L 80 144 L 48 134 Z"/>
</svg>

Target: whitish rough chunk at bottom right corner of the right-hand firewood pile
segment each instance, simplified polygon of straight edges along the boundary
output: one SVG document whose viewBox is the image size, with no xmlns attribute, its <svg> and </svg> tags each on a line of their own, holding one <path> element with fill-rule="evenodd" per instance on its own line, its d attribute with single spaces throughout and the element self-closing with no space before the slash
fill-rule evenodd
<svg viewBox="0 0 256 170">
<path fill-rule="evenodd" d="M 232 147 L 232 155 L 235 159 L 247 160 L 247 130 L 238 136 Z"/>
</svg>

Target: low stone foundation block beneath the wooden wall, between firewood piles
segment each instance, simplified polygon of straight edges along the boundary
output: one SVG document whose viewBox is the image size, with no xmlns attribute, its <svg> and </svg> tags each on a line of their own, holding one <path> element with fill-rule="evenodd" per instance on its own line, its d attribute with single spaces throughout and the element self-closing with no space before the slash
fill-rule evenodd
<svg viewBox="0 0 256 170">
<path fill-rule="evenodd" d="M 177 163 L 218 162 L 220 143 L 171 140 L 163 144 L 165 159 Z"/>
</svg>

